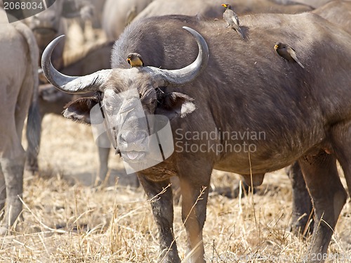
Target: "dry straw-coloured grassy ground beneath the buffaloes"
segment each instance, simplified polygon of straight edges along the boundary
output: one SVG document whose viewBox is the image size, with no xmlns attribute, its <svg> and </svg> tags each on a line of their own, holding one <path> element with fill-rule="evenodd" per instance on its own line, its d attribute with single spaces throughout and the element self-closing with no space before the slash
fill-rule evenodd
<svg viewBox="0 0 351 263">
<path fill-rule="evenodd" d="M 107 187 L 92 187 L 97 157 L 88 125 L 56 115 L 44 118 L 41 171 L 25 177 L 25 222 L 18 223 L 18 233 L 2 238 L 0 262 L 157 261 L 157 226 L 143 190 L 114 184 L 124 174 L 114 155 Z M 215 189 L 235 181 L 234 174 L 213 172 Z M 180 210 L 177 203 L 174 231 L 186 259 Z M 335 257 L 351 256 L 350 217 L 349 199 L 327 262 L 347 262 Z M 302 262 L 307 243 L 289 232 L 290 218 L 291 188 L 283 171 L 267 174 L 255 195 L 230 199 L 211 192 L 204 227 L 207 261 Z M 239 260 L 240 255 L 249 257 Z"/>
</svg>

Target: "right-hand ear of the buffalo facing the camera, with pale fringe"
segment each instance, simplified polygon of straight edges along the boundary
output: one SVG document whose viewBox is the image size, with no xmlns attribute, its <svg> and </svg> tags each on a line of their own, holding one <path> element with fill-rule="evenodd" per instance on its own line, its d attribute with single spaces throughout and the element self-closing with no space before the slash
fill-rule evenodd
<svg viewBox="0 0 351 263">
<path fill-rule="evenodd" d="M 166 115 L 169 120 L 173 117 L 185 117 L 196 110 L 192 101 L 194 98 L 179 92 L 161 93 L 157 98 L 156 114 Z"/>
</svg>

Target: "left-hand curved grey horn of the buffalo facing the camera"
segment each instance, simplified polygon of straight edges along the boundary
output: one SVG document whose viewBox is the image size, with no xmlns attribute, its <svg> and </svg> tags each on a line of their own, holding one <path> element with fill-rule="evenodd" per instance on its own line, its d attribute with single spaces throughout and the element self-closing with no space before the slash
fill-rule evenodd
<svg viewBox="0 0 351 263">
<path fill-rule="evenodd" d="M 100 70 L 83 77 L 69 77 L 53 68 L 51 53 L 53 53 L 53 49 L 55 49 L 55 46 L 63 37 L 65 37 L 65 35 L 53 39 L 53 41 L 46 46 L 43 56 L 41 56 L 41 68 L 43 69 L 45 77 L 57 89 L 67 93 L 75 94 L 98 91 L 100 86 L 105 83 L 108 75 L 110 75 L 111 70 Z"/>
</svg>

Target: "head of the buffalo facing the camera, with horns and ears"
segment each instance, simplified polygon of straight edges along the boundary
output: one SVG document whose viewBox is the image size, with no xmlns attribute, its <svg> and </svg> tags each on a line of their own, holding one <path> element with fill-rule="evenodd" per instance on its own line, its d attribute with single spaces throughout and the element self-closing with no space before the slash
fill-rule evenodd
<svg viewBox="0 0 351 263">
<path fill-rule="evenodd" d="M 63 115 L 92 123 L 91 110 L 100 107 L 107 131 L 125 162 L 139 162 L 147 154 L 149 135 L 153 132 L 152 116 L 164 115 L 169 120 L 184 117 L 195 110 L 193 98 L 179 92 L 164 92 L 166 86 L 182 86 L 196 79 L 208 62 L 208 46 L 204 38 L 189 27 L 199 53 L 193 63 L 178 70 L 162 70 L 151 66 L 100 70 L 84 77 L 62 75 L 51 64 L 51 53 L 63 36 L 56 38 L 43 53 L 44 75 L 57 89 L 71 94 L 95 92 L 95 96 L 69 103 Z"/>
</svg>

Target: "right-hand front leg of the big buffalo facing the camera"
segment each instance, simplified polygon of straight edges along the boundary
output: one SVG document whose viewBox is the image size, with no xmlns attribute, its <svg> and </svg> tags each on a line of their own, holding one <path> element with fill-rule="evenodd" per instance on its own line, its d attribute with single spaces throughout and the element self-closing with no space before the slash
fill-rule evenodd
<svg viewBox="0 0 351 263">
<path fill-rule="evenodd" d="M 192 169 L 204 171 L 203 162 L 201 169 L 195 169 L 193 163 Z M 191 167 L 184 165 L 184 167 Z M 200 174 L 189 174 L 189 171 L 180 173 L 180 189 L 182 193 L 182 219 L 187 231 L 188 255 L 187 262 L 203 263 L 204 259 L 204 241 L 202 240 L 202 229 L 206 221 L 206 205 L 208 199 L 208 186 L 211 179 L 211 168 L 208 167 L 206 172 Z"/>
</svg>

